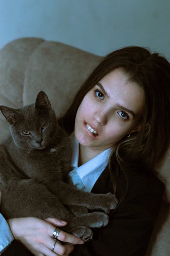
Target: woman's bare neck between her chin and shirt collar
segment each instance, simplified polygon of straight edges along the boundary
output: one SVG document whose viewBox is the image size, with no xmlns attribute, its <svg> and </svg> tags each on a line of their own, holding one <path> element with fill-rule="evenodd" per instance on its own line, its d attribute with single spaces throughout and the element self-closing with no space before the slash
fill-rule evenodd
<svg viewBox="0 0 170 256">
<path fill-rule="evenodd" d="M 101 152 L 101 149 L 84 147 L 82 145 L 79 145 L 79 166 L 90 161 Z"/>
</svg>

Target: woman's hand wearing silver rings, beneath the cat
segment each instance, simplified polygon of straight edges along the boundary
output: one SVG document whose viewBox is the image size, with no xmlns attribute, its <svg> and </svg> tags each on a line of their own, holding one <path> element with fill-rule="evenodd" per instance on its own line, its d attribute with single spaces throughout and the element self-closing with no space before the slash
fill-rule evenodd
<svg viewBox="0 0 170 256">
<path fill-rule="evenodd" d="M 48 218 L 46 220 L 27 217 L 27 218 L 13 218 L 7 220 L 13 236 L 24 244 L 28 250 L 35 256 L 68 256 L 74 250 L 73 245 L 62 245 L 60 241 L 71 244 L 83 244 L 84 242 L 78 237 L 60 231 L 57 242 L 52 247 L 54 240 L 52 238 L 53 231 L 56 227 L 63 227 L 67 222 L 62 223 L 61 220 Z M 60 241 L 58 241 L 60 240 Z"/>
</svg>

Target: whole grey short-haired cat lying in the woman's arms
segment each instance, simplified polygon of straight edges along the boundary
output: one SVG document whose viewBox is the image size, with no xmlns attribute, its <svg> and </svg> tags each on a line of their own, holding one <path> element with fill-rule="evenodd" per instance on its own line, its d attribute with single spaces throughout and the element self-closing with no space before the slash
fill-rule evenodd
<svg viewBox="0 0 170 256">
<path fill-rule="evenodd" d="M 39 92 L 35 104 L 22 108 L 0 106 L 10 124 L 11 137 L 0 145 L 1 213 L 6 218 L 55 217 L 68 221 L 65 230 L 89 240 L 88 227 L 108 223 L 115 195 L 86 193 L 66 183 L 70 171 L 70 139 L 57 124 L 47 95 Z M 68 206 L 104 212 L 73 214 Z M 75 216 L 77 215 L 77 216 Z"/>
</svg>

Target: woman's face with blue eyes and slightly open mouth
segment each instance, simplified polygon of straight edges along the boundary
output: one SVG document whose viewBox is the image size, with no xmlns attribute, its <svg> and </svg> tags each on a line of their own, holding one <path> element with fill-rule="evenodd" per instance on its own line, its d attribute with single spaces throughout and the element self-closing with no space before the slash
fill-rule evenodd
<svg viewBox="0 0 170 256">
<path fill-rule="evenodd" d="M 75 137 L 84 147 L 103 151 L 140 129 L 144 91 L 121 68 L 102 78 L 83 98 L 75 118 Z"/>
</svg>

